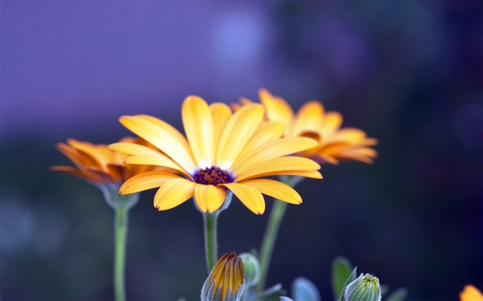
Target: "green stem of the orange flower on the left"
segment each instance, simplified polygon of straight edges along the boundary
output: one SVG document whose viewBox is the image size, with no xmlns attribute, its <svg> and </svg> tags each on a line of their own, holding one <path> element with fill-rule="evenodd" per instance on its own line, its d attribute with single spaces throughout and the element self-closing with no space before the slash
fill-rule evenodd
<svg viewBox="0 0 483 301">
<path fill-rule="evenodd" d="M 126 300 L 124 286 L 124 265 L 126 262 L 126 236 L 128 233 L 128 207 L 121 205 L 115 208 L 115 257 L 114 257 L 114 292 L 115 300 Z"/>
</svg>

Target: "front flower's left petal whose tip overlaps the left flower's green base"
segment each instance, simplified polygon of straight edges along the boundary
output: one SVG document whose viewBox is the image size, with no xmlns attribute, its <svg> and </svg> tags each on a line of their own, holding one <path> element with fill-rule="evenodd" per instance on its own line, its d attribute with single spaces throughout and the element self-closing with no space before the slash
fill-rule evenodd
<svg viewBox="0 0 483 301">
<path fill-rule="evenodd" d="M 137 174 L 124 182 L 121 188 L 119 188 L 119 194 L 134 194 L 135 192 L 161 187 L 172 178 L 179 178 L 179 176 L 168 172 L 144 172 Z"/>
</svg>

